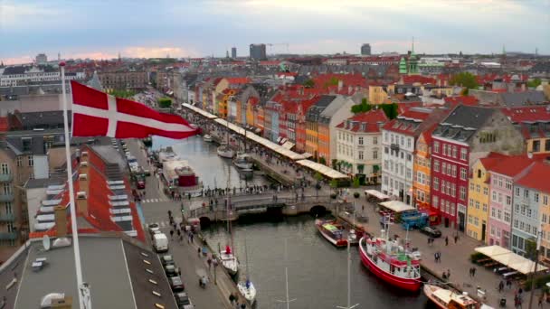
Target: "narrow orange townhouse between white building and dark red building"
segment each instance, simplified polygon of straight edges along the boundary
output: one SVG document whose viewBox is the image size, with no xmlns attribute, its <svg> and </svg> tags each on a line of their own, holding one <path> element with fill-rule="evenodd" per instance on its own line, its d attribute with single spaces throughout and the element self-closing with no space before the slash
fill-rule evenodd
<svg viewBox="0 0 550 309">
<path fill-rule="evenodd" d="M 431 132 L 437 125 L 428 127 L 418 136 L 414 164 L 412 165 L 412 194 L 415 207 L 422 211 L 430 211 L 431 184 Z"/>
</svg>

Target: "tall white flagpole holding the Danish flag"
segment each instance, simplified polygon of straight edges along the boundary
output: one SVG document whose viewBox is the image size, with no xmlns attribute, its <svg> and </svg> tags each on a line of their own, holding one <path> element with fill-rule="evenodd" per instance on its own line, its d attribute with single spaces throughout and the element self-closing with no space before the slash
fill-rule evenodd
<svg viewBox="0 0 550 309">
<path fill-rule="evenodd" d="M 88 292 L 87 286 L 82 282 L 82 268 L 81 268 L 81 248 L 79 245 L 79 232 L 76 226 L 76 207 L 74 203 L 74 187 L 72 185 L 72 162 L 71 162 L 71 136 L 69 136 L 69 116 L 67 112 L 67 91 L 65 89 L 65 62 L 61 62 L 59 66 L 62 68 L 62 100 L 63 100 L 63 123 L 65 128 L 65 158 L 67 160 L 67 183 L 69 183 L 69 201 L 71 211 L 71 229 L 72 229 L 72 248 L 74 249 L 74 266 L 76 268 L 76 283 L 77 291 L 79 295 L 79 304 L 81 309 L 91 309 L 91 305 L 87 308 L 84 304 L 84 295 L 82 293 Z M 72 124 L 74 126 L 74 124 Z M 89 303 L 90 304 L 90 303 Z"/>
</svg>

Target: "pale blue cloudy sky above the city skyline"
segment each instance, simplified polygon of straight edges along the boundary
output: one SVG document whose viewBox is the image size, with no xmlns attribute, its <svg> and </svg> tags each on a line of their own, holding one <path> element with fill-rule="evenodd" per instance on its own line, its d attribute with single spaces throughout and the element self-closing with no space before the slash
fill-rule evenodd
<svg viewBox="0 0 550 309">
<path fill-rule="evenodd" d="M 0 0 L 0 61 L 268 53 L 550 54 L 550 0 Z"/>
</svg>

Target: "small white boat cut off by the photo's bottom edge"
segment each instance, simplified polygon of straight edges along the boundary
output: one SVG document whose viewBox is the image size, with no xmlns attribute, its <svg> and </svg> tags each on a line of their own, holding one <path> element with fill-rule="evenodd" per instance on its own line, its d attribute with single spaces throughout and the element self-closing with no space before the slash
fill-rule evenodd
<svg viewBox="0 0 550 309">
<path fill-rule="evenodd" d="M 423 290 L 424 295 L 441 309 L 479 309 L 480 307 L 480 304 L 466 292 L 460 294 L 441 286 L 429 284 L 424 285 Z"/>
</svg>

